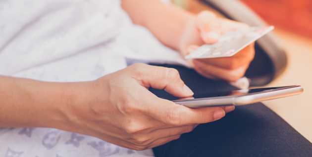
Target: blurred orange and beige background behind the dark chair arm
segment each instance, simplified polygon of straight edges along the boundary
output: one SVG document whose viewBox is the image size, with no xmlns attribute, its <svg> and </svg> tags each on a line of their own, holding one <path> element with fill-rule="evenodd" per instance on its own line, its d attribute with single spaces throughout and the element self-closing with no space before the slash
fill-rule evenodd
<svg viewBox="0 0 312 157">
<path fill-rule="evenodd" d="M 218 14 L 203 1 L 172 0 L 194 13 L 211 10 Z M 264 101 L 263 104 L 312 142 L 312 0 L 240 1 L 256 12 L 268 25 L 275 26 L 274 33 L 286 52 L 285 71 L 264 87 L 302 85 L 304 88 L 303 94 Z"/>
</svg>

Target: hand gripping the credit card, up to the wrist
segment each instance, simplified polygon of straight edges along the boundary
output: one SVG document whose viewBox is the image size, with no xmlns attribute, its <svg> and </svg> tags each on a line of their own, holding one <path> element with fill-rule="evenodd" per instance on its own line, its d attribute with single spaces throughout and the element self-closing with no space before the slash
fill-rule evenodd
<svg viewBox="0 0 312 157">
<path fill-rule="evenodd" d="M 186 56 L 205 43 L 217 42 L 225 31 L 248 27 L 244 23 L 217 18 L 214 13 L 203 11 L 189 20 L 181 37 L 179 49 L 182 55 Z M 254 55 L 254 43 L 252 43 L 231 57 L 192 59 L 189 62 L 206 78 L 236 81 L 245 75 Z"/>
</svg>

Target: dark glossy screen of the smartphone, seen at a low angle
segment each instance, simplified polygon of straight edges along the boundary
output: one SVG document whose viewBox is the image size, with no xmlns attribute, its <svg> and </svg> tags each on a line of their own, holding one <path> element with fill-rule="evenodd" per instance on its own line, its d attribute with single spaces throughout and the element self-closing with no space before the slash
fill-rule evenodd
<svg viewBox="0 0 312 157">
<path fill-rule="evenodd" d="M 179 102 L 179 101 L 194 101 L 194 100 L 200 100 L 200 99 L 207 99 L 207 98 L 223 98 L 223 97 L 233 97 L 233 96 L 242 96 L 242 95 L 251 95 L 256 94 L 260 92 L 267 92 L 272 90 L 279 90 L 279 89 L 285 89 L 294 87 L 296 85 L 291 86 L 282 86 L 282 87 L 269 87 L 269 88 L 254 88 L 254 89 L 241 89 L 241 90 L 232 90 L 232 91 L 222 91 L 222 92 L 212 92 L 212 93 L 204 93 L 204 94 L 194 94 L 192 97 L 186 97 L 186 98 L 179 98 L 176 100 L 171 100 L 173 102 Z"/>
</svg>

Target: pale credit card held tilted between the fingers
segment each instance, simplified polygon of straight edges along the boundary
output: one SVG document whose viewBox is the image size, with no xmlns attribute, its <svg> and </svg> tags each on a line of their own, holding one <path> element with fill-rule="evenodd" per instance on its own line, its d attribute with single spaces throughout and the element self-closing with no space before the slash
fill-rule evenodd
<svg viewBox="0 0 312 157">
<path fill-rule="evenodd" d="M 218 42 L 204 44 L 185 59 L 230 57 L 274 29 L 274 26 L 250 27 L 225 32 Z"/>
</svg>

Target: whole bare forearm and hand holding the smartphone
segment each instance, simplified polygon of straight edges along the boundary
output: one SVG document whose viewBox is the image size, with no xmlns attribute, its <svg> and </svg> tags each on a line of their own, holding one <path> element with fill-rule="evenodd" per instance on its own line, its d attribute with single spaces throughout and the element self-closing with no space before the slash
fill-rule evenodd
<svg viewBox="0 0 312 157">
<path fill-rule="evenodd" d="M 54 127 L 143 150 L 177 139 L 234 106 L 191 109 L 158 98 L 193 92 L 175 69 L 135 64 L 87 82 L 44 82 L 0 76 L 0 127 Z"/>
</svg>

